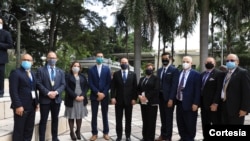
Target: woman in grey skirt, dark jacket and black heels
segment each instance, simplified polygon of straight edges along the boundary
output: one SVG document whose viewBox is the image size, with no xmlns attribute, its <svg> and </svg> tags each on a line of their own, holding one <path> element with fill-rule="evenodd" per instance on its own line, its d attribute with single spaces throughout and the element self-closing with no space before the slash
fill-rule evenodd
<svg viewBox="0 0 250 141">
<path fill-rule="evenodd" d="M 65 113 L 70 128 L 70 137 L 72 140 L 81 139 L 82 118 L 87 116 L 86 105 L 88 82 L 81 73 L 81 64 L 77 61 L 70 66 L 70 72 L 65 76 Z M 76 131 L 74 132 L 74 121 L 76 121 Z"/>
</svg>

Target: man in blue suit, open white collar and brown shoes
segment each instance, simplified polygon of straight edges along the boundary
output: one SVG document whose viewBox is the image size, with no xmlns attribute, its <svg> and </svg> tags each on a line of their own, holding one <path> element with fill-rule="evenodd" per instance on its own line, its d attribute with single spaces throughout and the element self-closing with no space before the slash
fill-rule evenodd
<svg viewBox="0 0 250 141">
<path fill-rule="evenodd" d="M 109 105 L 109 89 L 111 83 L 111 72 L 108 66 L 103 63 L 103 53 L 96 54 L 96 65 L 88 71 L 89 87 L 91 89 L 90 100 L 92 110 L 92 137 L 91 141 L 97 139 L 97 113 L 99 103 L 101 103 L 102 122 L 103 122 L 103 138 L 109 140 L 109 124 L 108 124 L 108 105 Z"/>
</svg>

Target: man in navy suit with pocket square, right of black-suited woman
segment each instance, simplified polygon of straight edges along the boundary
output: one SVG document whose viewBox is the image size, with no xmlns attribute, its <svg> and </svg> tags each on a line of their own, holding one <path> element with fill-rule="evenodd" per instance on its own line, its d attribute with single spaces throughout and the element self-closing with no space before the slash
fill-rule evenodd
<svg viewBox="0 0 250 141">
<path fill-rule="evenodd" d="M 173 132 L 173 112 L 179 70 L 172 65 L 172 56 L 166 52 L 161 55 L 162 68 L 157 70 L 160 81 L 159 109 L 161 116 L 161 134 L 156 141 L 171 141 Z"/>
</svg>

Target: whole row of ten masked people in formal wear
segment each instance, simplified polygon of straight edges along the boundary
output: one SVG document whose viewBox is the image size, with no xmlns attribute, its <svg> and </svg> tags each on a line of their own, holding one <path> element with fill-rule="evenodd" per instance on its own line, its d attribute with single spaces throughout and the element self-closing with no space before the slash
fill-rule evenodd
<svg viewBox="0 0 250 141">
<path fill-rule="evenodd" d="M 206 126 L 244 124 L 244 117 L 250 111 L 250 77 L 247 70 L 239 67 L 236 54 L 226 59 L 227 71 L 216 68 L 213 57 L 204 63 L 206 71 L 199 73 L 192 69 L 192 57 L 184 56 L 182 69 L 172 65 L 170 53 L 162 54 L 162 67 L 154 74 L 151 63 L 146 64 L 143 75 L 137 83 L 136 74 L 129 70 L 127 58 L 120 59 L 121 69 L 111 74 L 103 64 L 103 53 L 96 54 L 96 65 L 88 70 L 88 77 L 81 73 L 81 64 L 72 62 L 69 73 L 56 67 L 55 52 L 47 54 L 47 63 L 31 71 L 33 58 L 24 54 L 21 66 L 9 76 L 11 108 L 14 113 L 13 141 L 31 140 L 35 113 L 40 108 L 39 140 L 45 141 L 45 131 L 51 112 L 52 141 L 58 139 L 58 115 L 65 91 L 65 117 L 70 127 L 72 140 L 81 139 L 82 118 L 87 116 L 87 91 L 90 89 L 91 141 L 98 138 L 97 114 L 101 105 L 103 138 L 109 140 L 108 105 L 115 105 L 116 141 L 122 140 L 123 113 L 125 114 L 126 141 L 131 138 L 133 105 L 141 105 L 142 141 L 171 141 L 173 113 L 176 107 L 176 121 L 181 141 L 194 141 L 198 108 L 201 108 L 202 129 L 206 139 Z M 88 78 L 88 79 L 87 79 Z M 39 92 L 39 95 L 37 91 Z M 155 139 L 158 107 L 161 118 L 161 133 Z M 74 131 L 74 122 L 76 131 Z"/>
</svg>

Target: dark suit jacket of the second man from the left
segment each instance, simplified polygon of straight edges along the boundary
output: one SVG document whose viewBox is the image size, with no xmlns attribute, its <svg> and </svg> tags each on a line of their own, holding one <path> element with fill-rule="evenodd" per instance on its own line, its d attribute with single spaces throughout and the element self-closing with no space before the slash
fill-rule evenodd
<svg viewBox="0 0 250 141">
<path fill-rule="evenodd" d="M 55 102 L 58 104 L 62 102 L 62 92 L 66 86 L 65 74 L 59 68 L 55 68 L 55 71 L 55 83 L 54 86 L 52 86 L 47 66 L 40 67 L 37 70 L 37 88 L 39 90 L 40 104 L 50 104 L 51 99 L 48 97 L 49 91 L 57 91 L 58 95 L 55 98 Z"/>
</svg>

